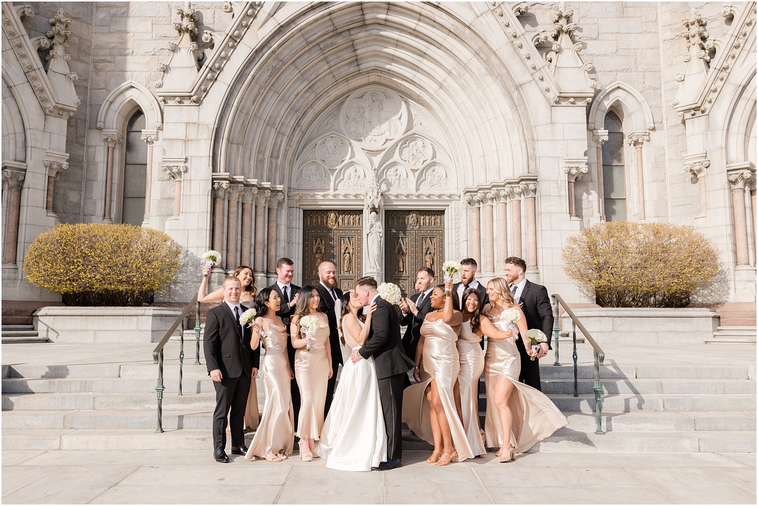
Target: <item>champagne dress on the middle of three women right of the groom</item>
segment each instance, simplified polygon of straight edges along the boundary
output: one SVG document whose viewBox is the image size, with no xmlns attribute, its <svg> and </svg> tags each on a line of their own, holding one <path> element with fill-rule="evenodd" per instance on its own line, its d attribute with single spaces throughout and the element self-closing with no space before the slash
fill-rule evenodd
<svg viewBox="0 0 758 506">
<path fill-rule="evenodd" d="M 458 371 L 463 415 L 461 421 L 471 450 L 475 455 L 484 455 L 487 449 L 484 448 L 479 426 L 479 378 L 484 370 L 484 351 L 479 342 L 481 337 L 471 331 L 471 322 L 463 322 L 456 342 L 461 364 Z"/>
</svg>

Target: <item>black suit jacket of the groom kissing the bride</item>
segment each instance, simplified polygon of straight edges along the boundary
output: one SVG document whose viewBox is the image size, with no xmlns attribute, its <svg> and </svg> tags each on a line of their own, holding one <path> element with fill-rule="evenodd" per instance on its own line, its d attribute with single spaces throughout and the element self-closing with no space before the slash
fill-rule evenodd
<svg viewBox="0 0 758 506">
<path fill-rule="evenodd" d="M 371 330 L 359 349 L 363 358 L 374 357 L 377 379 L 405 374 L 413 367 L 402 351 L 400 341 L 400 315 L 384 298 L 376 298 L 377 308 L 371 314 Z"/>
</svg>

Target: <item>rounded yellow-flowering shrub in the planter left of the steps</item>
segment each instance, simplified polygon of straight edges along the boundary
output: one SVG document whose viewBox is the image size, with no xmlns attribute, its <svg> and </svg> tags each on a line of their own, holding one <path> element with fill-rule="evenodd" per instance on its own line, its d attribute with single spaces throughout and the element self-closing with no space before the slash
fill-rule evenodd
<svg viewBox="0 0 758 506">
<path fill-rule="evenodd" d="M 65 305 L 139 306 L 174 280 L 181 248 L 159 230 L 109 223 L 58 224 L 27 249 L 27 280 Z"/>
</svg>

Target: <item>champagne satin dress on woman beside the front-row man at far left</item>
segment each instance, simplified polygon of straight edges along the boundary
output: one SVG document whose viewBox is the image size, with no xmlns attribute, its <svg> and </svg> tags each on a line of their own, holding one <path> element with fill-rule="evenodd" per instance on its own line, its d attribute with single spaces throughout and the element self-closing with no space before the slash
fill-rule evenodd
<svg viewBox="0 0 758 506">
<path fill-rule="evenodd" d="M 286 327 L 269 322 L 268 343 L 265 339 L 261 339 L 261 342 L 266 348 L 261 368 L 266 401 L 263 405 L 261 423 L 245 454 L 249 461 L 255 457 L 267 458 L 277 453 L 289 455 L 295 442 Z"/>
</svg>

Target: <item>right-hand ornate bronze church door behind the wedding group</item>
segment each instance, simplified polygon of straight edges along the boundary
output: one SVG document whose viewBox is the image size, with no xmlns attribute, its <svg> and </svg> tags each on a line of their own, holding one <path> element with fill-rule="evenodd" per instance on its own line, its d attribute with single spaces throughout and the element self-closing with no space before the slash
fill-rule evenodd
<svg viewBox="0 0 758 506">
<path fill-rule="evenodd" d="M 440 277 L 445 262 L 444 211 L 384 211 L 384 223 L 385 281 L 411 295 L 421 267 L 431 267 Z"/>
</svg>

